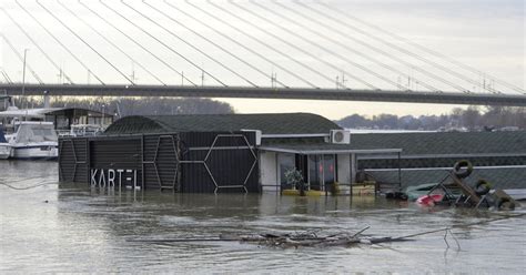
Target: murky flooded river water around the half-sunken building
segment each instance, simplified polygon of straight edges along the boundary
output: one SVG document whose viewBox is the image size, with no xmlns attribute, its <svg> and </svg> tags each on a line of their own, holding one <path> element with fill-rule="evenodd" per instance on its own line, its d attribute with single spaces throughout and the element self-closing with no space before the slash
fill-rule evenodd
<svg viewBox="0 0 526 275">
<path fill-rule="evenodd" d="M 0 273 L 490 273 L 524 274 L 526 220 L 508 218 L 413 242 L 275 248 L 239 242 L 144 238 L 318 231 L 401 236 L 524 213 L 421 208 L 383 198 L 101 194 L 58 184 L 53 162 L 0 162 Z"/>
</svg>

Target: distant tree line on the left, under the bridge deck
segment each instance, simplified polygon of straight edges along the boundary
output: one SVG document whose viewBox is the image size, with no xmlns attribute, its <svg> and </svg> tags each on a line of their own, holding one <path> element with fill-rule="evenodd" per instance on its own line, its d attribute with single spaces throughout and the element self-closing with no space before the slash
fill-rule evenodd
<svg viewBox="0 0 526 275">
<path fill-rule="evenodd" d="M 42 96 L 14 98 L 13 100 L 18 108 L 43 106 Z M 121 116 L 234 113 L 234 109 L 229 103 L 209 99 L 57 96 L 52 98 L 50 103 L 52 108 L 83 108 Z M 3 108 L 2 104 L 0 109 Z"/>
</svg>

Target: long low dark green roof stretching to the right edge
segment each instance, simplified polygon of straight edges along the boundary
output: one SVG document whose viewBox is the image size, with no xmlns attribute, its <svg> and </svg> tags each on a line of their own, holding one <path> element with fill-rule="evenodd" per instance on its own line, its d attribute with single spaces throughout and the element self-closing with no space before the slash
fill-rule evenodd
<svg viewBox="0 0 526 275">
<path fill-rule="evenodd" d="M 371 133 L 351 134 L 351 144 L 328 144 L 320 139 L 266 140 L 265 147 L 293 151 L 402 149 L 402 155 L 526 154 L 526 132 Z"/>
</svg>

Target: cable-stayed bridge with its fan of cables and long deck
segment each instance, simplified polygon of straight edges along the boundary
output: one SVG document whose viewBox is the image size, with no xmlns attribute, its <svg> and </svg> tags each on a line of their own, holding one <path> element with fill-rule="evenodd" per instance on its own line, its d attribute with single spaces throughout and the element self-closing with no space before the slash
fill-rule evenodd
<svg viewBox="0 0 526 275">
<path fill-rule="evenodd" d="M 11 95 L 526 105 L 522 86 L 325 1 L 0 4 L 0 93 Z"/>
</svg>

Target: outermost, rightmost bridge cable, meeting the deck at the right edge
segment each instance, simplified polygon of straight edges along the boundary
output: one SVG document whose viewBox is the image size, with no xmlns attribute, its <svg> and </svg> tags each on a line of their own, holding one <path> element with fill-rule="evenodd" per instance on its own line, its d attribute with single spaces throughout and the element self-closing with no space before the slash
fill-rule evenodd
<svg viewBox="0 0 526 275">
<path fill-rule="evenodd" d="M 364 21 L 364 20 L 362 20 L 362 19 L 358 19 L 358 18 L 353 17 L 353 16 L 351 16 L 351 14 L 347 14 L 347 13 L 345 13 L 345 12 L 342 12 L 341 10 L 334 9 L 333 7 L 326 4 L 326 3 L 322 2 L 322 1 L 317 1 L 316 3 L 320 4 L 320 6 L 323 6 L 323 7 L 327 8 L 327 9 L 330 9 L 330 10 L 332 10 L 332 11 L 334 11 L 334 12 L 337 12 L 337 13 L 340 13 L 340 14 L 342 14 L 342 16 L 344 16 L 344 17 L 351 19 L 351 20 L 354 20 L 354 21 L 357 21 L 357 22 L 360 22 L 360 23 L 362 23 L 362 24 L 364 24 L 364 26 L 367 26 L 368 28 L 375 29 L 375 30 L 377 30 L 377 31 L 380 31 L 380 32 L 382 32 L 382 33 L 384 33 L 384 34 L 387 34 L 387 35 L 394 38 L 394 39 L 397 39 L 397 40 L 399 40 L 399 41 L 403 41 L 403 42 L 405 42 L 405 43 L 407 43 L 407 44 L 409 44 L 409 45 L 412 45 L 412 47 L 414 47 L 414 48 L 417 48 L 417 49 L 419 49 L 419 50 L 422 50 L 422 51 L 424 51 L 424 52 L 426 52 L 426 53 L 433 54 L 433 55 L 435 55 L 435 57 L 437 57 L 437 58 L 441 58 L 442 60 L 445 60 L 445 61 L 447 61 L 447 62 L 449 62 L 449 63 L 452 63 L 452 64 L 458 65 L 458 67 L 463 68 L 464 70 L 471 71 L 471 72 L 473 72 L 473 73 L 475 73 L 475 74 L 483 74 L 483 75 L 486 75 L 486 77 L 489 78 L 490 80 L 494 80 L 495 82 L 500 83 L 502 85 L 505 85 L 505 86 L 507 86 L 507 88 L 509 88 L 509 89 L 512 89 L 512 90 L 516 90 L 516 91 L 519 92 L 519 93 L 526 93 L 525 90 L 522 89 L 522 88 L 519 88 L 519 86 L 516 86 L 516 85 L 514 85 L 514 84 L 512 84 L 512 83 L 508 83 L 508 82 L 506 82 L 506 81 L 503 81 L 503 80 L 500 80 L 500 79 L 498 79 L 498 78 L 492 77 L 492 75 L 489 75 L 489 74 L 487 74 L 487 73 L 485 73 L 485 72 L 483 72 L 483 71 L 479 71 L 479 70 L 477 70 L 477 69 L 475 69 L 475 68 L 473 68 L 473 67 L 469 67 L 469 65 L 464 64 L 464 63 L 462 63 L 462 62 L 459 62 L 459 61 L 456 61 L 456 60 L 454 60 L 454 59 L 452 59 L 452 58 L 448 58 L 448 57 L 446 57 L 446 55 L 444 55 L 444 54 L 442 54 L 442 53 L 439 53 L 439 52 L 437 52 L 437 51 L 434 51 L 434 50 L 432 50 L 432 49 L 429 49 L 429 48 L 426 48 L 426 47 L 424 47 L 424 45 L 421 45 L 421 44 L 418 44 L 418 43 L 415 43 L 415 42 L 413 42 L 413 41 L 411 41 L 411 40 L 408 40 L 408 39 L 406 39 L 406 38 L 404 38 L 404 37 L 401 37 L 401 35 L 398 35 L 398 34 L 394 33 L 394 32 L 387 31 L 387 30 L 382 29 L 382 28 L 380 28 L 380 27 L 377 27 L 377 26 L 374 26 L 374 24 L 372 24 L 372 23 L 370 23 L 370 22 L 366 22 L 366 21 Z"/>
</svg>

